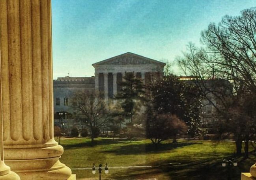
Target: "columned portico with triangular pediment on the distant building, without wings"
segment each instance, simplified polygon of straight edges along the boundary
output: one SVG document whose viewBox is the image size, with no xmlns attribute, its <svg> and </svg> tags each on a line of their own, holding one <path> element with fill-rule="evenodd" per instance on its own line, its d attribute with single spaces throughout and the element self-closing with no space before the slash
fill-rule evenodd
<svg viewBox="0 0 256 180">
<path fill-rule="evenodd" d="M 92 66 L 95 68 L 95 91 L 104 92 L 105 100 L 108 100 L 120 90 L 118 82 L 125 73 L 133 72 L 136 77 L 142 78 L 144 83 L 148 83 L 163 76 L 165 65 L 131 52 L 94 63 Z"/>
</svg>

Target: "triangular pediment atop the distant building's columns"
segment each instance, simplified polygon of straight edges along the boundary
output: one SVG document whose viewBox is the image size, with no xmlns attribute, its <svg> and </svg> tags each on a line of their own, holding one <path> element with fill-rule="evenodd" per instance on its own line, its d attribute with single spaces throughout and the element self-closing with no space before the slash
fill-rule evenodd
<svg viewBox="0 0 256 180">
<path fill-rule="evenodd" d="M 155 65 L 165 65 L 160 61 L 146 58 L 144 56 L 140 56 L 138 54 L 134 54 L 131 52 L 127 52 L 125 54 L 121 54 L 119 56 L 115 56 L 113 58 L 105 59 L 103 61 L 99 61 L 93 64 L 93 67 L 98 65 L 147 65 L 147 64 L 155 64 Z"/>
</svg>

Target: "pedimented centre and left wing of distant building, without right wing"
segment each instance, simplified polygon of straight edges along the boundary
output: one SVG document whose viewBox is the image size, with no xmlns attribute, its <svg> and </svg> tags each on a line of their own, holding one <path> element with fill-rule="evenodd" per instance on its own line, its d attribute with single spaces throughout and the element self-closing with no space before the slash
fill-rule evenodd
<svg viewBox="0 0 256 180">
<path fill-rule="evenodd" d="M 72 98 L 75 92 L 101 91 L 105 100 L 113 98 L 121 87 L 118 82 L 122 81 L 127 72 L 133 72 L 136 77 L 142 78 L 143 83 L 148 83 L 163 76 L 163 69 L 166 64 L 160 61 L 146 58 L 138 54 L 127 52 L 113 58 L 94 63 L 95 77 L 73 78 L 64 77 L 53 80 L 54 84 L 54 119 L 55 124 L 71 127 L 75 125 L 70 121 L 69 114 L 75 114 L 72 108 Z M 69 122 L 69 124 L 67 124 Z"/>
</svg>

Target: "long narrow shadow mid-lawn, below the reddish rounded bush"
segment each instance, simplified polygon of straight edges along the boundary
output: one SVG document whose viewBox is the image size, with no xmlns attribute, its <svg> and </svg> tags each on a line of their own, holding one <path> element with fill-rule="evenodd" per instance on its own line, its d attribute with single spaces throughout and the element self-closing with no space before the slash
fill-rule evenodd
<svg viewBox="0 0 256 180">
<path fill-rule="evenodd" d="M 182 142 L 182 143 L 165 143 L 159 144 L 157 147 L 153 144 L 130 144 L 120 146 L 118 148 L 112 150 L 105 150 L 101 151 L 104 153 L 114 153 L 116 155 L 129 155 L 129 154 L 150 154 L 150 153 L 161 153 L 166 150 L 173 150 L 176 148 L 181 148 L 185 146 L 190 146 L 194 144 L 202 144 L 202 143 L 195 143 L 195 142 Z"/>
</svg>

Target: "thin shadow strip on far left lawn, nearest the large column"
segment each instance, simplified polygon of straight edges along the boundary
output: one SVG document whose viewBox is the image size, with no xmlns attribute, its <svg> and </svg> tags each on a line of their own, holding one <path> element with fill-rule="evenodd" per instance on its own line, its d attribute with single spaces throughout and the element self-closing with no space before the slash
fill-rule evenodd
<svg viewBox="0 0 256 180">
<path fill-rule="evenodd" d="M 62 146 L 65 149 L 71 149 L 71 148 L 81 148 L 81 147 L 94 147 L 97 145 L 111 145 L 111 144 L 117 144 L 117 143 L 122 143 L 122 142 L 128 142 L 127 139 L 95 139 L 93 143 L 91 141 L 86 141 L 85 142 L 79 142 L 79 143 L 71 143 L 71 144 L 62 144 Z"/>
</svg>

